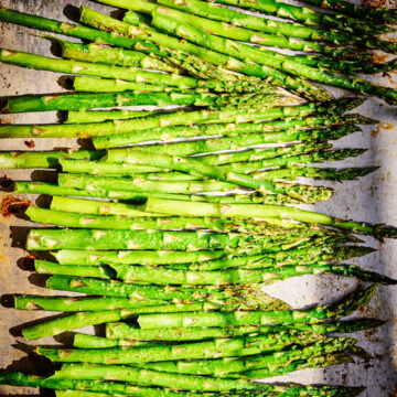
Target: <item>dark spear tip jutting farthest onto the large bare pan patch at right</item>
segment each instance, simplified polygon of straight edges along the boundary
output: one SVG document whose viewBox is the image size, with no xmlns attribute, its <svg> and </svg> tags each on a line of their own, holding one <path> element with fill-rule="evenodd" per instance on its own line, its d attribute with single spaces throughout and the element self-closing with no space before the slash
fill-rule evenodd
<svg viewBox="0 0 397 397">
<path fill-rule="evenodd" d="M 357 180 L 361 176 L 371 174 L 377 169 L 378 167 L 347 168 L 342 170 L 334 168 L 292 167 L 273 171 L 255 172 L 253 176 L 270 181 L 294 181 L 297 178 L 304 176 L 341 182 L 345 180 Z"/>
</svg>

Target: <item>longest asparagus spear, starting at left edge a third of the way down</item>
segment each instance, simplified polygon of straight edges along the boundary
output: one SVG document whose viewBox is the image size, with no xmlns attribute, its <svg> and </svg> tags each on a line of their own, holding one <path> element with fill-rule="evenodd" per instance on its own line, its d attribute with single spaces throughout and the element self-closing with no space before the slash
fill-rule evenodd
<svg viewBox="0 0 397 397">
<path fill-rule="evenodd" d="M 341 99 L 328 104 L 309 104 L 303 106 L 278 107 L 268 110 L 257 109 L 226 109 L 226 110 L 198 110 L 160 114 L 152 117 L 124 120 L 120 122 L 105 121 L 92 122 L 84 126 L 76 125 L 10 125 L 0 128 L 1 138 L 89 138 L 94 136 L 109 136 L 115 133 L 129 133 L 150 128 L 184 126 L 191 124 L 218 124 L 218 122 L 249 122 L 268 121 L 285 117 L 304 117 L 313 114 L 340 115 L 352 110 L 363 104 L 360 98 Z"/>
</svg>

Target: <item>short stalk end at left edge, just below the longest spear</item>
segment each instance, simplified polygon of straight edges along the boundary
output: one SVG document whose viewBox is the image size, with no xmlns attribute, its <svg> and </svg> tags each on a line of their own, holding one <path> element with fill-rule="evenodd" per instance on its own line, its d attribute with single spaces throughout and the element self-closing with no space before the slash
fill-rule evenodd
<svg viewBox="0 0 397 397">
<path fill-rule="evenodd" d="M 0 152 L 1 169 L 58 168 L 60 159 L 97 160 L 106 152 L 94 150 L 49 151 L 49 152 Z M 143 169 L 146 170 L 146 169 Z M 146 171 L 143 171 L 146 172 Z M 150 172 L 150 171 L 149 171 Z"/>
</svg>

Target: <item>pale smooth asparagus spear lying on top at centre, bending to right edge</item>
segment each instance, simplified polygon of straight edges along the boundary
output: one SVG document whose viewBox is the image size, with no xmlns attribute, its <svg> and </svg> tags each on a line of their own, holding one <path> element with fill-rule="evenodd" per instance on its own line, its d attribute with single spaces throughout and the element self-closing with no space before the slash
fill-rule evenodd
<svg viewBox="0 0 397 397">
<path fill-rule="evenodd" d="M 222 205 L 215 203 L 184 203 L 183 208 L 178 202 L 148 198 L 144 206 L 146 211 L 155 211 L 168 215 L 195 214 L 195 216 L 216 216 L 216 217 L 276 217 L 283 218 L 288 216 L 296 222 L 303 222 L 315 225 L 324 225 L 336 227 L 354 233 L 373 235 L 378 239 L 394 238 L 396 229 L 384 225 L 372 225 L 368 223 L 358 223 L 352 221 L 341 221 L 331 215 L 300 210 L 297 207 L 282 205 L 265 205 L 265 204 L 229 204 Z"/>
</svg>

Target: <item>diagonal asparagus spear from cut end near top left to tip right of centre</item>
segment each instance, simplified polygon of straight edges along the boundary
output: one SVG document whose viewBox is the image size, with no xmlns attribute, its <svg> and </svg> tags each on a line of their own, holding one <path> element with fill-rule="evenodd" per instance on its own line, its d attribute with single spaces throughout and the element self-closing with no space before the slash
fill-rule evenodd
<svg viewBox="0 0 397 397">
<path fill-rule="evenodd" d="M 176 37 L 159 33 L 155 29 L 150 29 L 146 25 L 144 29 L 142 29 L 141 26 L 133 26 L 128 23 L 115 20 L 110 17 L 104 15 L 94 10 L 90 10 L 86 7 L 82 8 L 81 22 L 100 30 L 111 31 L 125 36 L 135 37 L 137 40 L 140 37 L 142 37 L 143 40 L 149 40 L 151 43 L 155 43 L 155 45 L 165 47 L 169 54 L 170 52 L 172 53 L 172 51 L 174 50 L 182 51 L 184 53 L 196 55 L 201 57 L 204 62 L 208 62 L 217 66 L 223 66 L 234 72 L 239 72 L 248 76 L 269 79 L 269 83 L 287 87 L 287 89 L 297 92 L 298 94 L 301 94 L 302 96 L 305 96 L 311 100 L 331 99 L 330 93 L 319 87 L 315 87 L 299 77 L 292 78 L 285 73 L 270 67 L 247 63 L 245 61 L 242 62 L 228 55 L 203 49 L 192 43 L 182 42 Z"/>
</svg>

